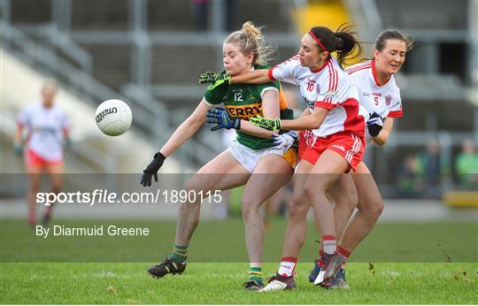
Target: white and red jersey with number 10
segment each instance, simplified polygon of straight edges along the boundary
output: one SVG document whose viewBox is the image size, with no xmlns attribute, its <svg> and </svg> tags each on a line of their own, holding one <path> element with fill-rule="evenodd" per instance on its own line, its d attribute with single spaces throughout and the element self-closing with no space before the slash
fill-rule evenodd
<svg viewBox="0 0 478 306">
<path fill-rule="evenodd" d="M 330 110 L 318 129 L 312 133 L 327 137 L 339 132 L 365 134 L 366 110 L 358 104 L 357 89 L 335 57 L 317 71 L 300 65 L 299 56 L 290 57 L 269 70 L 269 78 L 283 80 L 300 88 L 300 94 L 313 111 L 314 107 Z"/>
</svg>

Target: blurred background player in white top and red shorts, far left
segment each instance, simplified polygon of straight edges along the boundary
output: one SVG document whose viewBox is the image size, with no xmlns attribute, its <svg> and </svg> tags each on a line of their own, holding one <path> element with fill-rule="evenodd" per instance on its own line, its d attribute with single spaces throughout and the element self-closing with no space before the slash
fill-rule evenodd
<svg viewBox="0 0 478 306">
<path fill-rule="evenodd" d="M 57 193 L 63 185 L 63 147 L 68 142 L 70 119 L 66 112 L 54 103 L 57 86 L 47 81 L 42 87 L 42 102 L 27 106 L 19 113 L 14 149 L 18 155 L 23 153 L 22 131 L 27 128 L 25 145 L 25 167 L 30 178 L 28 190 L 28 222 L 36 224 L 35 196 L 41 185 L 42 172 L 50 174 L 51 191 Z M 44 217 L 43 224 L 50 221 L 51 204 Z"/>
</svg>

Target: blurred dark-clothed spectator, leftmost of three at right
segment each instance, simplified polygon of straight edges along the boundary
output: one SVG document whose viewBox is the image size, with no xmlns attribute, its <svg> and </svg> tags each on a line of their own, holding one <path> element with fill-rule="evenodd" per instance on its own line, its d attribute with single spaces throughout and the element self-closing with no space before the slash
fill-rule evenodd
<svg viewBox="0 0 478 306">
<path fill-rule="evenodd" d="M 405 158 L 397 171 L 397 196 L 402 198 L 414 198 L 420 195 L 422 183 L 417 175 L 417 157 L 410 155 Z"/>
</svg>

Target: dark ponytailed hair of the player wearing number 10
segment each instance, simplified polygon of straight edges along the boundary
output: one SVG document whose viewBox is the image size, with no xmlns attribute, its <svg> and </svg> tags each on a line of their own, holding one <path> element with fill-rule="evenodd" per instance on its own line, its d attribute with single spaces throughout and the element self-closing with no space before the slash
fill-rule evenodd
<svg viewBox="0 0 478 306">
<path fill-rule="evenodd" d="M 311 33 L 315 36 L 312 36 L 312 38 L 320 50 L 328 51 L 328 53 L 337 52 L 337 62 L 341 66 L 357 57 L 362 50 L 362 46 L 354 36 L 356 33 L 352 30 L 351 25 L 343 24 L 335 33 L 328 27 L 312 27 Z"/>
</svg>

